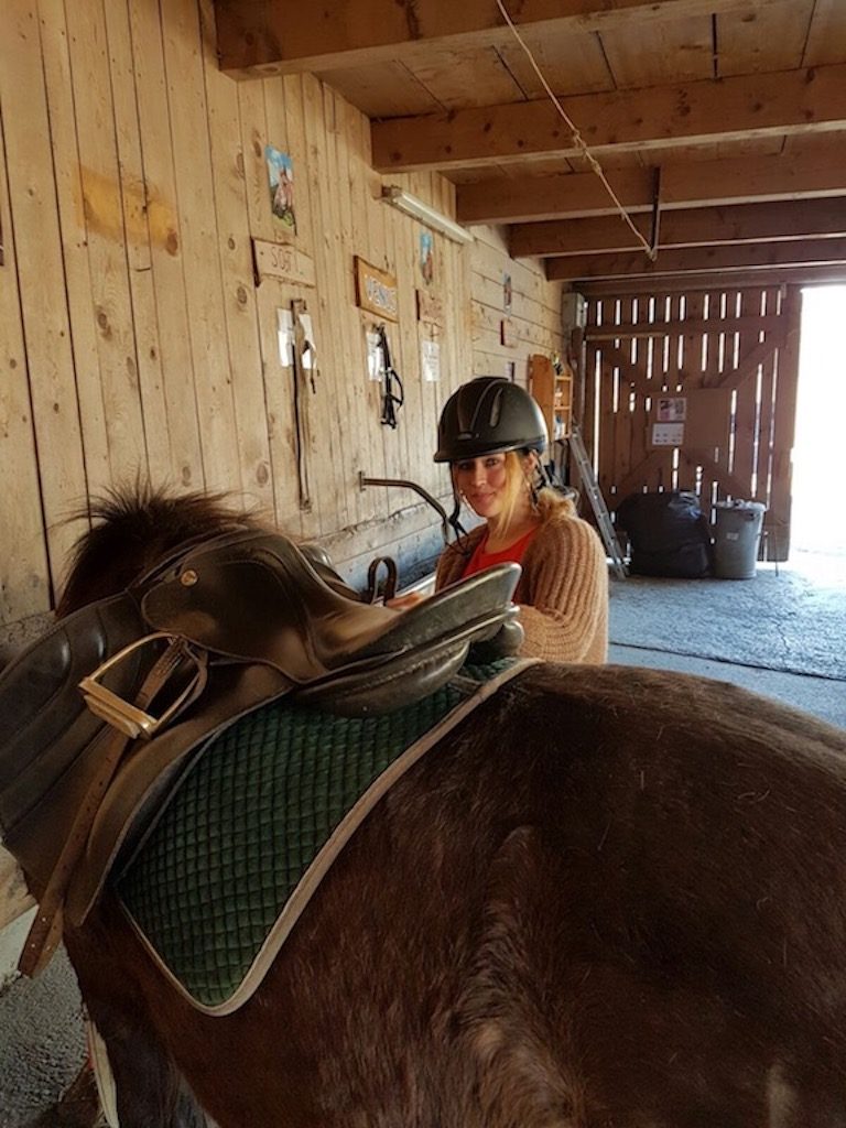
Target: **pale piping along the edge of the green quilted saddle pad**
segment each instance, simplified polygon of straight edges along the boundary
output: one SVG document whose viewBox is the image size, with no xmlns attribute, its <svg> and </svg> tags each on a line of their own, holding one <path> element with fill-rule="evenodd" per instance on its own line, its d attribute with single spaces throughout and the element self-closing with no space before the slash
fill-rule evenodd
<svg viewBox="0 0 846 1128">
<path fill-rule="evenodd" d="M 430 729 L 430 731 L 412 744 L 411 748 L 407 748 L 402 756 L 398 756 L 397 759 L 394 760 L 394 763 L 386 768 L 377 779 L 373 781 L 364 794 L 361 795 L 358 802 L 347 811 L 337 827 L 335 827 L 335 830 L 311 862 L 311 865 L 300 879 L 300 883 L 289 897 L 282 913 L 276 918 L 276 923 L 267 933 L 264 943 L 258 950 L 256 958 L 247 970 L 247 973 L 240 985 L 223 1003 L 219 1003 L 214 1006 L 199 1003 L 197 999 L 195 999 L 171 973 L 170 969 L 159 957 L 158 952 L 149 943 L 144 933 L 141 928 L 139 928 L 132 915 L 126 910 L 125 906 L 123 906 L 124 913 L 135 931 L 135 934 L 147 949 L 152 961 L 157 964 L 171 986 L 175 987 L 176 990 L 192 1004 L 192 1006 L 194 1006 L 197 1011 L 201 1011 L 203 1014 L 231 1014 L 233 1011 L 237 1011 L 238 1007 L 243 1006 L 264 979 L 271 964 L 279 954 L 279 950 L 282 948 L 282 944 L 288 938 L 289 933 L 300 917 L 300 914 L 311 900 L 314 892 L 325 878 L 329 866 L 359 827 L 359 823 L 364 819 L 364 816 L 369 814 L 382 795 L 385 795 L 385 793 L 408 770 L 409 767 L 416 764 L 416 761 L 424 756 L 430 748 L 433 748 L 440 740 L 442 740 L 460 721 L 464 721 L 464 719 L 478 705 L 481 705 L 484 700 L 487 700 L 488 697 L 492 697 L 497 689 L 505 685 L 506 681 L 510 681 L 518 673 L 522 673 L 530 666 L 536 666 L 540 661 L 541 659 L 538 658 L 518 659 L 518 661 L 508 670 L 503 670 L 502 673 L 491 678 L 490 681 L 482 682 L 469 697 L 456 705 L 456 707 L 448 713 L 442 721 L 440 721 L 433 729 Z"/>
</svg>

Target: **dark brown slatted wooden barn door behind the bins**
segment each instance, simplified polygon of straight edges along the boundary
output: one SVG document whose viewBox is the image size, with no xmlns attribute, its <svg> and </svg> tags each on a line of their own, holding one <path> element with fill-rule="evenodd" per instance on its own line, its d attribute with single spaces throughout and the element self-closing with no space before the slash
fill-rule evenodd
<svg viewBox="0 0 846 1128">
<path fill-rule="evenodd" d="M 764 502 L 786 559 L 801 296 L 763 287 L 592 298 L 584 431 L 609 509 L 644 490 Z"/>
</svg>

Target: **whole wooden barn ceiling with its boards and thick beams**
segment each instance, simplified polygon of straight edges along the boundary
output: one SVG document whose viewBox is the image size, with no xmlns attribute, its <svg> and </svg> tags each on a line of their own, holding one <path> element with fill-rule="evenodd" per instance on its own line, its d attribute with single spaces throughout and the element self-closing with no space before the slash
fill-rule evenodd
<svg viewBox="0 0 846 1128">
<path fill-rule="evenodd" d="M 550 277 L 846 280 L 846 0 L 217 0 L 238 79 L 314 71 L 371 120 L 373 165 L 434 169 L 465 224 Z M 803 275 L 802 272 L 805 272 Z"/>
</svg>

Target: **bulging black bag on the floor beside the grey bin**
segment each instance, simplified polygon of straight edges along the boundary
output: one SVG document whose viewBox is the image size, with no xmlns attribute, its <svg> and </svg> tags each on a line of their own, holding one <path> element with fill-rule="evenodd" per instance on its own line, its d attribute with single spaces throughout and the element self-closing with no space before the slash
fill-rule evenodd
<svg viewBox="0 0 846 1128">
<path fill-rule="evenodd" d="M 685 490 L 629 494 L 616 511 L 631 544 L 629 569 L 637 575 L 698 580 L 711 575 L 708 522 L 699 500 Z"/>
</svg>

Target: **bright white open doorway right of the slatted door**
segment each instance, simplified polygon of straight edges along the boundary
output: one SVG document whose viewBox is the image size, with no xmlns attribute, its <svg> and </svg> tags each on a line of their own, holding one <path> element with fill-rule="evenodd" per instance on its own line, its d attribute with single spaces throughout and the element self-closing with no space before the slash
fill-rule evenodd
<svg viewBox="0 0 846 1128">
<path fill-rule="evenodd" d="M 813 557 L 846 557 L 840 469 L 846 422 L 844 326 L 846 285 L 803 289 L 793 446 L 792 564 L 811 565 Z"/>
</svg>

